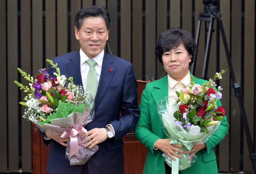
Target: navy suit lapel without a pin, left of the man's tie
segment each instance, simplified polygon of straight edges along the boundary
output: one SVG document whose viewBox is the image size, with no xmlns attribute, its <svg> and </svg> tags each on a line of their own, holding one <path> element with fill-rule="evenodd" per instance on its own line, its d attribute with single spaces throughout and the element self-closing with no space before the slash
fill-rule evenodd
<svg viewBox="0 0 256 174">
<path fill-rule="evenodd" d="M 81 71 L 80 71 L 80 54 L 79 54 L 79 51 L 75 52 L 75 54 L 72 57 L 70 57 L 70 60 L 72 62 L 67 63 L 67 69 L 68 69 L 69 77 L 73 77 L 75 85 L 82 85 L 83 86 L 82 76 L 81 76 Z"/>
</svg>

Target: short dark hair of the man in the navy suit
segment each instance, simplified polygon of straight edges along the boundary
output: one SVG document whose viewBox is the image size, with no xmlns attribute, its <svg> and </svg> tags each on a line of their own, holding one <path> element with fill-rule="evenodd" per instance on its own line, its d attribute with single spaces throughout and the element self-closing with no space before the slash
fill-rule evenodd
<svg viewBox="0 0 256 174">
<path fill-rule="evenodd" d="M 102 6 L 90 6 L 84 7 L 75 16 L 75 27 L 77 30 L 80 30 L 83 25 L 83 19 L 88 17 L 102 17 L 105 20 L 106 26 L 108 30 L 111 26 L 111 19 L 109 16 L 109 12 L 105 7 Z"/>
</svg>

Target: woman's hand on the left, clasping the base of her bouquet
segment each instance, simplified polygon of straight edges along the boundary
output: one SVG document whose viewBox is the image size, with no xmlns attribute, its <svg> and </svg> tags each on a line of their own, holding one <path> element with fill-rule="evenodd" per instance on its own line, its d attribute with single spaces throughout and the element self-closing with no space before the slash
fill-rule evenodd
<svg viewBox="0 0 256 174">
<path fill-rule="evenodd" d="M 176 152 L 180 152 L 180 153 L 184 153 L 184 152 L 183 150 L 178 149 L 178 148 L 181 148 L 180 144 L 169 144 L 171 140 L 172 140 L 171 138 L 158 139 L 154 144 L 154 148 L 160 149 L 162 152 L 165 152 L 167 155 L 169 155 L 170 158 L 172 158 L 173 160 L 176 160 L 173 157 L 173 155 L 177 156 L 178 158 L 181 158 L 181 155 L 177 154 Z M 188 152 L 191 153 L 190 151 Z"/>
</svg>

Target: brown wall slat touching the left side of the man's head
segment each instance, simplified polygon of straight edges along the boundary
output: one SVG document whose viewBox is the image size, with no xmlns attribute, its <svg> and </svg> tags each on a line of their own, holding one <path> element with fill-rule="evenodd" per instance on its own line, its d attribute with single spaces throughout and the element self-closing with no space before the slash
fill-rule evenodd
<svg viewBox="0 0 256 174">
<path fill-rule="evenodd" d="M 81 0 L 71 0 L 71 52 L 79 51 L 80 44 L 79 41 L 75 38 L 75 15 L 78 11 L 81 10 Z"/>
</svg>

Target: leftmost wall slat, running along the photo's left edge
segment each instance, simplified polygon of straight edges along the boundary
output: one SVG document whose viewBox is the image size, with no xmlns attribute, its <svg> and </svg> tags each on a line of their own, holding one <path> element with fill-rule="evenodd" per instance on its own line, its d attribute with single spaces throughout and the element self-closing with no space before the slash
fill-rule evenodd
<svg viewBox="0 0 256 174">
<path fill-rule="evenodd" d="M 7 52 L 6 52 L 6 2 L 5 0 L 0 1 L 0 73 L 7 74 Z M 7 76 L 2 76 L 2 82 L 6 83 Z M 0 155 L 0 171 L 7 171 L 7 85 L 0 85 L 0 91 L 2 92 L 2 100 L 0 104 L 1 111 L 1 122 L 0 127 L 2 132 L 2 139 L 4 141 L 0 141 L 1 147 L 1 155 Z"/>
</svg>

